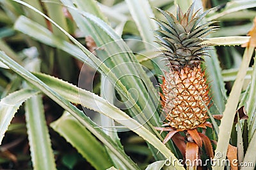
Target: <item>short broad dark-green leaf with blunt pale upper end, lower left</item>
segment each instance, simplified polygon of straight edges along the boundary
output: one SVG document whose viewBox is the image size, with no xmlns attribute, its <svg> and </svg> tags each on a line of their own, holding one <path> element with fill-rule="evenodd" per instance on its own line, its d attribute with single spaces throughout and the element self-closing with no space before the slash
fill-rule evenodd
<svg viewBox="0 0 256 170">
<path fill-rule="evenodd" d="M 67 111 L 52 122 L 51 127 L 74 146 L 95 169 L 112 166 L 104 146 Z"/>
</svg>

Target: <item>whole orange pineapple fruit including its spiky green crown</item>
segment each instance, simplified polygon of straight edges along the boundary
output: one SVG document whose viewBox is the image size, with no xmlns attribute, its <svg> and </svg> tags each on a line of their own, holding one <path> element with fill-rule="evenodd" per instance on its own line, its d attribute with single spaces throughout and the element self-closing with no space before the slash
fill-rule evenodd
<svg viewBox="0 0 256 170">
<path fill-rule="evenodd" d="M 166 21 L 154 18 L 161 27 L 155 31 L 157 43 L 165 48 L 160 56 L 166 57 L 170 68 L 160 85 L 163 111 L 168 120 L 164 125 L 178 131 L 204 127 L 208 118 L 205 106 L 209 107 L 211 101 L 201 62 L 202 57 L 208 55 L 205 50 L 209 49 L 209 44 L 203 43 L 204 38 L 216 27 L 209 26 L 214 22 L 198 25 L 209 11 L 200 15 L 199 10 L 193 13 L 194 6 L 193 3 L 184 14 L 178 6 L 177 17 L 158 9 Z"/>
</svg>

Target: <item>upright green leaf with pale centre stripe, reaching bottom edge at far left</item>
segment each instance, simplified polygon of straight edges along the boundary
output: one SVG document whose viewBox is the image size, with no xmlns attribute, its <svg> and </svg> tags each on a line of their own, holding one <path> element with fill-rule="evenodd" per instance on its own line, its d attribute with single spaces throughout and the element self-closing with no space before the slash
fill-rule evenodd
<svg viewBox="0 0 256 170">
<path fill-rule="evenodd" d="M 40 60 L 26 60 L 25 67 L 30 71 L 40 71 Z M 24 83 L 23 87 L 28 87 Z M 29 140 L 29 150 L 33 169 L 56 169 L 54 154 L 51 148 L 51 139 L 45 121 L 42 96 L 33 96 L 25 102 L 26 127 Z"/>
</svg>

